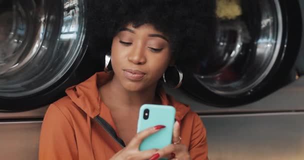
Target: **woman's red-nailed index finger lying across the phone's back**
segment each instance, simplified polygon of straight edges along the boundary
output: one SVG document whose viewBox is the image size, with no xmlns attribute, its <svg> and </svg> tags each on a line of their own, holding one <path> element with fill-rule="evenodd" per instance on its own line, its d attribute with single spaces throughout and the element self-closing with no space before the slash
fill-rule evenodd
<svg viewBox="0 0 304 160">
<path fill-rule="evenodd" d="M 147 136 L 157 132 L 159 129 L 164 128 L 164 125 L 155 125 L 153 127 L 146 128 L 137 134 L 131 139 L 128 146 L 135 146 L 138 147 L 141 141 L 146 138 Z"/>
</svg>

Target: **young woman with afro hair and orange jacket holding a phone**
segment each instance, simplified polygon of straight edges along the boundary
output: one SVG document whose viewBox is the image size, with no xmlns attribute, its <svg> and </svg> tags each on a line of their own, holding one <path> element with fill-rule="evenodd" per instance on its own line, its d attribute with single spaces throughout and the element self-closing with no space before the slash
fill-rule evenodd
<svg viewBox="0 0 304 160">
<path fill-rule="evenodd" d="M 66 89 L 41 127 L 39 159 L 207 159 L 206 130 L 199 116 L 167 95 L 160 82 L 169 66 L 193 69 L 212 49 L 214 1 L 89 0 L 90 45 L 110 50 L 110 67 Z M 100 46 L 100 47 L 99 47 Z M 100 64 L 101 65 L 101 64 Z M 171 70 L 171 69 L 170 69 Z M 185 69 L 184 69 L 185 70 Z M 165 127 L 136 133 L 142 104 L 176 109 L 172 144 L 139 151 L 142 139 Z"/>
</svg>

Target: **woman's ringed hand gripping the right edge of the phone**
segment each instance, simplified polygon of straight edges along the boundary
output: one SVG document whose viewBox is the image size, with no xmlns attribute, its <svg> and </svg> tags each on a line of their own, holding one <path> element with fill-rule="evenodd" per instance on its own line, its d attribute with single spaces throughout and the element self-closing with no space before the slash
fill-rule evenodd
<svg viewBox="0 0 304 160">
<path fill-rule="evenodd" d="M 160 157 L 168 157 L 169 159 L 190 160 L 190 153 L 184 144 L 180 144 L 180 123 L 176 120 L 173 127 L 172 144 L 159 149 Z M 155 160 L 155 159 L 153 159 Z"/>
</svg>

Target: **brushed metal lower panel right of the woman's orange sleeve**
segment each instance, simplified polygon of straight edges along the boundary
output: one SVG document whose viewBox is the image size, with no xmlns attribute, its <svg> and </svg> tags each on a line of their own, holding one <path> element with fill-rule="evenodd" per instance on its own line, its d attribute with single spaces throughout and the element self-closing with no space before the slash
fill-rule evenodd
<svg viewBox="0 0 304 160">
<path fill-rule="evenodd" d="M 304 112 L 201 119 L 210 160 L 304 159 Z"/>
</svg>

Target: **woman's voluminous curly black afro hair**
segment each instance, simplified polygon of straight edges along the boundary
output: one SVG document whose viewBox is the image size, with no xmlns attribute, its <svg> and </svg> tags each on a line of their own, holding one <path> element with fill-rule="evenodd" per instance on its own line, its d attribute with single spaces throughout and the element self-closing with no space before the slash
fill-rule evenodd
<svg viewBox="0 0 304 160">
<path fill-rule="evenodd" d="M 214 50 L 215 0 L 88 0 L 87 5 L 89 47 L 102 56 L 129 23 L 149 23 L 166 35 L 180 68 L 193 67 Z"/>
</svg>

